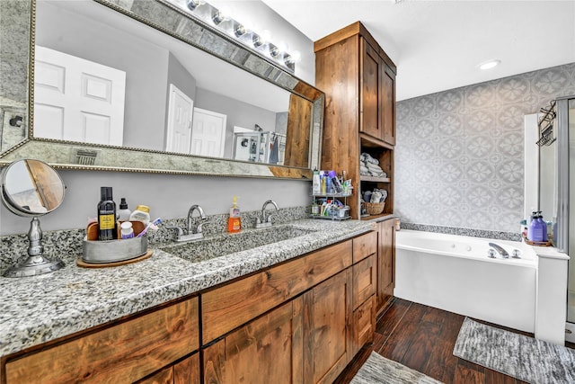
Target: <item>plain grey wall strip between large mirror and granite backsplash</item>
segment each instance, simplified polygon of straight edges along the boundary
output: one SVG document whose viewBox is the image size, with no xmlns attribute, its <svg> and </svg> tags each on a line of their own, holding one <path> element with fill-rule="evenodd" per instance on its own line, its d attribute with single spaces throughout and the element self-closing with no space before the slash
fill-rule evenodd
<svg viewBox="0 0 575 384">
<path fill-rule="evenodd" d="M 232 198 L 238 196 L 241 210 L 261 210 L 264 201 L 273 199 L 280 208 L 309 204 L 310 183 L 298 180 L 244 179 L 231 177 L 186 176 L 173 174 L 133 174 L 120 172 L 57 171 L 66 184 L 66 196 L 55 211 L 40 218 L 41 228 L 85 228 L 88 218 L 96 217 L 100 187 L 113 188 L 114 201 L 125 197 L 130 210 L 137 204 L 150 207 L 155 218 L 185 218 L 193 204 L 207 215 L 229 212 Z M 0 235 L 27 233 L 30 219 L 15 216 L 0 207 Z"/>
</svg>

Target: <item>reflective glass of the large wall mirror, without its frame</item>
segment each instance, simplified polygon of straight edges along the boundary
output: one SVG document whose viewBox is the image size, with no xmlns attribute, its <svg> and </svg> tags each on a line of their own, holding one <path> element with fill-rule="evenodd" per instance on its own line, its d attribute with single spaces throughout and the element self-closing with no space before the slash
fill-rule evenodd
<svg viewBox="0 0 575 384">
<path fill-rule="evenodd" d="M 35 138 L 309 167 L 310 101 L 92 1 L 38 1 L 34 79 Z"/>
</svg>

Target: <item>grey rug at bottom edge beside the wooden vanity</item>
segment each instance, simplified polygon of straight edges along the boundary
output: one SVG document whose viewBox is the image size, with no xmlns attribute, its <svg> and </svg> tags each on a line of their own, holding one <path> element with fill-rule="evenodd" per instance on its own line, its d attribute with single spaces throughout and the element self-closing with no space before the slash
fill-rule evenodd
<svg viewBox="0 0 575 384">
<path fill-rule="evenodd" d="M 349 384 L 441 384 L 441 381 L 431 379 L 421 372 L 411 370 L 399 362 L 385 359 L 380 354 L 372 352 L 367 362 L 359 368 L 358 373 Z"/>
</svg>

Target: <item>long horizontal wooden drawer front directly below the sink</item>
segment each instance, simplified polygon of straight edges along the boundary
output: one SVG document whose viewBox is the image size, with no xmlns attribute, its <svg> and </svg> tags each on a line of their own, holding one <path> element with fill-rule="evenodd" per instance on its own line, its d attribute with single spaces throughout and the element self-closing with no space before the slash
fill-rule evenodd
<svg viewBox="0 0 575 384">
<path fill-rule="evenodd" d="M 202 294 L 203 344 L 346 269 L 351 253 L 348 240 Z"/>
</svg>

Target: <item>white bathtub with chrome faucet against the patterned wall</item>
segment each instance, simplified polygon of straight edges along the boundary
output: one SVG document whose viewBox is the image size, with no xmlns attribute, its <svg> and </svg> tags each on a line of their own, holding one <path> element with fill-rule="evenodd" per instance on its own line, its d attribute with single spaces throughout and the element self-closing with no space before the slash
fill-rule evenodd
<svg viewBox="0 0 575 384">
<path fill-rule="evenodd" d="M 511 255 L 487 257 L 493 242 Z M 537 260 L 524 243 L 402 229 L 394 296 L 533 333 Z"/>
</svg>

